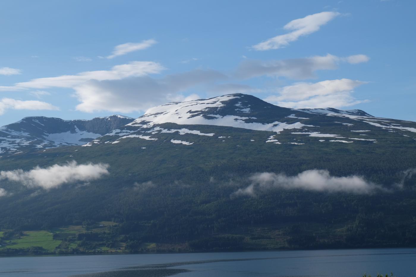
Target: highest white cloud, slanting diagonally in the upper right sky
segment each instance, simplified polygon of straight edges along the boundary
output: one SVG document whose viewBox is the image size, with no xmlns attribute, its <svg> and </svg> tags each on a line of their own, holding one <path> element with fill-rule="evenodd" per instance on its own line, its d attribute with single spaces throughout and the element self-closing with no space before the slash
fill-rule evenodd
<svg viewBox="0 0 416 277">
<path fill-rule="evenodd" d="M 317 32 L 322 25 L 327 24 L 330 20 L 340 15 L 339 12 L 319 12 L 313 15 L 295 19 L 287 23 L 283 28 L 292 31 L 285 35 L 272 37 L 264 42 L 253 45 L 252 48 L 258 51 L 279 49 L 289 45 L 301 36 L 309 35 Z"/>
</svg>

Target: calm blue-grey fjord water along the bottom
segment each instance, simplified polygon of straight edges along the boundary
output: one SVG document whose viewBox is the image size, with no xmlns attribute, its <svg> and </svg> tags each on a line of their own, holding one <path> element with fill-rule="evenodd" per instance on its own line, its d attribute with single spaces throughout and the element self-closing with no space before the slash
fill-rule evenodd
<svg viewBox="0 0 416 277">
<path fill-rule="evenodd" d="M 415 248 L 0 258 L 0 276 L 11 277 L 414 277 L 415 270 Z"/>
</svg>

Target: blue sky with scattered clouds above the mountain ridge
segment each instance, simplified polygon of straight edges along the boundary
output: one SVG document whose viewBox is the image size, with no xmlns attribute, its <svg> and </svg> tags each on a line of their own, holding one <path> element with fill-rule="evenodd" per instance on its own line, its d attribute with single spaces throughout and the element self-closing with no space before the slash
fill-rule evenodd
<svg viewBox="0 0 416 277">
<path fill-rule="evenodd" d="M 416 121 L 415 11 L 411 0 L 3 1 L 0 125 L 138 117 L 233 92 Z"/>
</svg>

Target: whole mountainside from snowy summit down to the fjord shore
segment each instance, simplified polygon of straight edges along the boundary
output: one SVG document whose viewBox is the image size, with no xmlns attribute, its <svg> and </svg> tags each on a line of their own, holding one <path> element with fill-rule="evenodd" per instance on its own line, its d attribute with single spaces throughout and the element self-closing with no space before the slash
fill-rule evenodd
<svg viewBox="0 0 416 277">
<path fill-rule="evenodd" d="M 246 94 L 44 120 L 2 129 L 52 148 L 0 157 L 0 253 L 40 230 L 62 253 L 416 246 L 415 122 Z"/>
</svg>

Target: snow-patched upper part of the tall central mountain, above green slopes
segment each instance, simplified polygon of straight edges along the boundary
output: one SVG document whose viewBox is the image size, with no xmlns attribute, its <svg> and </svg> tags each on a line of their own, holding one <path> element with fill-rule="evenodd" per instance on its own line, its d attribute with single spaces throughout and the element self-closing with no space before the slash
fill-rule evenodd
<svg viewBox="0 0 416 277">
<path fill-rule="evenodd" d="M 175 124 L 175 128 L 167 128 L 166 124 Z M 156 141 L 158 135 L 168 133 L 223 136 L 218 131 L 204 133 L 202 129 L 206 127 L 203 126 L 266 131 L 264 142 L 275 144 L 301 145 L 324 141 L 376 143 L 397 138 L 416 140 L 416 123 L 411 121 L 378 118 L 362 110 L 289 109 L 269 104 L 255 96 L 229 94 L 156 106 L 124 128 L 106 134 L 100 139 L 101 142 L 97 140 L 95 144 L 103 141 L 118 143 L 122 138 Z M 317 139 L 311 141 L 308 137 Z M 166 138 L 163 139 L 166 141 Z M 198 139 L 190 137 L 188 141 L 182 141 L 173 137 L 168 141 L 191 145 Z"/>
</svg>

